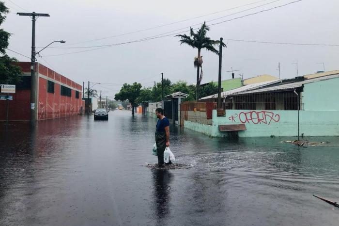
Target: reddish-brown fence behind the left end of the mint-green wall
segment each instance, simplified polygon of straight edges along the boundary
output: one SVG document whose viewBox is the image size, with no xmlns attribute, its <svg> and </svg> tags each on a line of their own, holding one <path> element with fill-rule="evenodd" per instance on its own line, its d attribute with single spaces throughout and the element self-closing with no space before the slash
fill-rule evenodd
<svg viewBox="0 0 339 226">
<path fill-rule="evenodd" d="M 212 111 L 216 109 L 214 102 L 186 101 L 180 105 L 181 126 L 185 121 L 212 125 Z"/>
</svg>

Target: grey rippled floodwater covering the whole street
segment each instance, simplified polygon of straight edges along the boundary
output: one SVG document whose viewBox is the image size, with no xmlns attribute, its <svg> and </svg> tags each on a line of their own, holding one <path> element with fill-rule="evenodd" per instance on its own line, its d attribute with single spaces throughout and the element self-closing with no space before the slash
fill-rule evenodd
<svg viewBox="0 0 339 226">
<path fill-rule="evenodd" d="M 155 123 L 114 111 L 1 125 L 0 225 L 338 225 L 339 208 L 312 194 L 339 201 L 339 147 L 171 126 L 178 165 L 158 169 Z"/>
</svg>

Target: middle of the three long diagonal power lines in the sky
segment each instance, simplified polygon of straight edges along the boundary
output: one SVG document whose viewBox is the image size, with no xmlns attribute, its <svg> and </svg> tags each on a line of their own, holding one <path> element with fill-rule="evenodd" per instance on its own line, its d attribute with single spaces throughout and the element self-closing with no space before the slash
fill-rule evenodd
<svg viewBox="0 0 339 226">
<path fill-rule="evenodd" d="M 242 11 L 240 11 L 240 12 L 235 12 L 235 13 L 232 13 L 232 14 L 229 14 L 229 15 L 226 15 L 226 16 L 221 16 L 221 17 L 217 17 L 217 18 L 215 18 L 215 19 L 207 20 L 206 22 L 215 21 L 215 20 L 217 20 L 217 19 L 225 18 L 225 17 L 227 17 L 227 16 L 233 16 L 233 15 L 235 15 L 235 14 L 243 13 L 243 12 L 246 12 L 246 11 L 248 11 L 248 10 L 252 10 L 252 9 L 255 9 L 255 8 L 258 8 L 258 7 L 262 7 L 262 6 L 265 6 L 265 5 L 268 5 L 268 4 L 272 4 L 272 3 L 277 2 L 277 1 L 280 1 L 280 0 L 270 1 L 270 2 L 268 2 L 268 3 L 262 4 L 262 5 L 258 5 L 258 6 L 255 6 L 255 7 L 249 8 L 249 9 L 246 9 L 246 10 L 242 10 Z M 300 1 L 301 1 L 301 0 L 300 0 Z M 138 40 L 136 40 L 136 41 L 140 41 L 140 40 L 144 40 L 144 39 L 147 39 L 147 40 L 148 40 L 149 38 L 157 37 L 157 36 L 159 36 L 159 35 L 164 35 L 164 34 L 168 34 L 168 33 L 172 33 L 172 32 L 178 32 L 178 31 L 181 31 L 181 30 L 184 30 L 184 29 L 188 29 L 188 28 L 191 28 L 191 27 L 194 27 L 194 26 L 198 26 L 198 25 L 201 25 L 201 24 L 200 24 L 200 23 L 193 24 L 193 25 L 188 26 L 188 27 L 176 29 L 176 30 L 173 30 L 173 31 L 170 31 L 170 32 L 164 32 L 164 33 L 152 35 L 152 36 L 149 36 L 149 37 L 145 37 L 145 38 L 142 38 L 142 39 L 138 39 Z M 209 25 L 209 26 L 210 26 L 210 25 Z M 194 29 L 194 30 L 197 30 L 197 29 Z M 188 31 L 189 31 L 189 30 L 188 30 Z M 188 31 L 181 31 L 181 32 L 188 32 Z M 181 32 L 179 32 L 179 33 L 181 33 Z M 175 34 L 177 34 L 177 33 L 175 33 Z M 172 34 L 170 34 L 170 35 L 172 35 Z M 170 35 L 168 35 L 168 36 L 170 36 Z M 123 44 L 126 44 L 126 43 L 123 43 Z M 114 45 L 116 45 L 116 44 L 97 45 L 97 46 L 88 46 L 88 47 L 64 47 L 64 45 L 63 45 L 63 47 L 49 47 L 49 48 L 61 48 L 61 49 L 62 49 L 62 48 L 66 48 L 66 49 L 68 49 L 68 48 L 98 48 L 98 47 L 110 47 L 110 46 L 114 46 Z M 40 47 L 39 47 L 39 48 L 40 48 Z"/>
</svg>

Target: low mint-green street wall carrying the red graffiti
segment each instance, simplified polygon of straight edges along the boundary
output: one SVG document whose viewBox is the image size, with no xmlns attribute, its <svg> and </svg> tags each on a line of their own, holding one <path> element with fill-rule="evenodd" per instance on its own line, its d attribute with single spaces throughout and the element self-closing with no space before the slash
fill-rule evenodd
<svg viewBox="0 0 339 226">
<path fill-rule="evenodd" d="M 251 111 L 227 110 L 225 117 L 216 117 L 213 110 L 213 125 L 185 121 L 185 128 L 211 137 L 222 137 L 219 125 L 242 124 L 245 131 L 239 137 L 297 136 L 297 111 Z M 339 136 L 339 111 L 300 111 L 300 136 Z"/>
</svg>

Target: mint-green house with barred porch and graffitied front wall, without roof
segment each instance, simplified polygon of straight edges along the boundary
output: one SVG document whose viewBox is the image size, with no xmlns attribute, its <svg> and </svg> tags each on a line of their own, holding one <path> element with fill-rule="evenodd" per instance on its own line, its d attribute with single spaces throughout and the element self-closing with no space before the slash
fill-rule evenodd
<svg viewBox="0 0 339 226">
<path fill-rule="evenodd" d="M 336 74 L 239 92 L 226 98 L 225 116 L 214 110 L 212 125 L 185 121 L 185 128 L 222 137 L 227 131 L 219 126 L 231 131 L 241 125 L 240 137 L 267 137 L 297 136 L 299 126 L 300 136 L 339 136 L 338 87 Z"/>
</svg>

